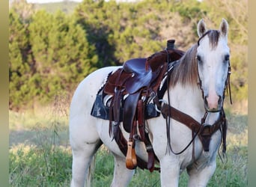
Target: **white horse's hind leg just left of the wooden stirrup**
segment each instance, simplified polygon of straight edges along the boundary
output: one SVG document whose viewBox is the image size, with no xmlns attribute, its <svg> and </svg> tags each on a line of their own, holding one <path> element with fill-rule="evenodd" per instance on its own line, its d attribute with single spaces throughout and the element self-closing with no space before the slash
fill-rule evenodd
<svg viewBox="0 0 256 187">
<path fill-rule="evenodd" d="M 134 170 L 127 169 L 125 158 L 114 154 L 115 170 L 112 180 L 112 187 L 128 186 L 129 181 L 132 179 Z"/>
</svg>

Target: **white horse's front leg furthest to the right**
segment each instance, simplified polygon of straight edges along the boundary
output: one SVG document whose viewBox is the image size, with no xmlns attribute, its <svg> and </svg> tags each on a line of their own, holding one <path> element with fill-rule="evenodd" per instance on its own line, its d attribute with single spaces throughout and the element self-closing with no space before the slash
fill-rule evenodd
<svg viewBox="0 0 256 187">
<path fill-rule="evenodd" d="M 210 178 L 213 177 L 214 171 L 216 170 L 216 160 L 207 163 L 204 168 L 192 168 L 188 170 L 189 174 L 189 185 L 188 186 L 207 186 Z"/>
</svg>

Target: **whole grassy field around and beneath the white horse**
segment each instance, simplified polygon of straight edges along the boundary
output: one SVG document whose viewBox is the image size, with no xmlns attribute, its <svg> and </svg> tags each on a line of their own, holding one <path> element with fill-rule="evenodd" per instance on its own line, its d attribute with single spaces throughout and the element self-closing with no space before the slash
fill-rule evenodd
<svg viewBox="0 0 256 187">
<path fill-rule="evenodd" d="M 70 186 L 72 154 L 68 117 L 64 107 L 37 112 L 10 111 L 10 186 Z M 208 186 L 247 186 L 247 116 L 227 114 L 228 162 L 217 158 L 217 169 Z M 110 186 L 114 159 L 101 147 L 97 152 L 92 186 Z M 186 186 L 186 172 L 180 186 Z M 129 186 L 160 186 L 159 173 L 137 169 Z"/>
</svg>

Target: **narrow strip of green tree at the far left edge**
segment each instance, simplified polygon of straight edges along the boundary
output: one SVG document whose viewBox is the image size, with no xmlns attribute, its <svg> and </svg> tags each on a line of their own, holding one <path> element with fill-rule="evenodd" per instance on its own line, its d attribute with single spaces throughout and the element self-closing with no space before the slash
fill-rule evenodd
<svg viewBox="0 0 256 187">
<path fill-rule="evenodd" d="M 30 61 L 31 45 L 28 41 L 28 24 L 22 22 L 19 14 L 14 10 L 9 13 L 9 96 L 10 108 L 18 108 L 30 99 L 29 87 L 30 72 L 34 70 Z M 21 99 L 22 98 L 22 99 Z"/>
</svg>

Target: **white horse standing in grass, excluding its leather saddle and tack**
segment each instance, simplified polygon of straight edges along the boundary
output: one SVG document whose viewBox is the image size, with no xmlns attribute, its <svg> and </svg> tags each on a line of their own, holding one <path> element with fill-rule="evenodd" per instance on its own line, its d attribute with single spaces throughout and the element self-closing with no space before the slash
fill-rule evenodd
<svg viewBox="0 0 256 187">
<path fill-rule="evenodd" d="M 207 30 L 201 19 L 198 22 L 198 36 L 198 43 L 174 67 L 169 94 L 166 91 L 163 100 L 169 99 L 172 107 L 189 114 L 198 123 L 204 117 L 201 126 L 212 126 L 222 113 L 227 86 L 230 53 L 228 22 L 222 19 L 219 30 Z M 108 74 L 118 68 L 120 67 L 104 67 L 96 70 L 79 84 L 73 95 L 70 105 L 70 144 L 73 151 L 71 186 L 85 186 L 91 161 L 102 144 L 108 147 L 115 158 L 111 186 L 128 186 L 135 172 L 126 168 L 125 156 L 118 144 L 109 137 L 109 120 L 91 116 L 97 91 Z M 192 130 L 171 118 L 168 133 L 172 152 L 166 153 L 168 138 L 165 118 L 160 115 L 147 120 L 147 128 L 153 150 L 159 159 L 161 186 L 178 186 L 180 172 L 185 169 L 189 174 L 189 186 L 207 186 L 216 170 L 216 154 L 222 143 L 222 130 L 218 129 L 211 135 L 207 151 L 198 135 L 189 144 L 193 138 Z M 124 131 L 122 123 L 121 129 L 124 137 L 128 138 L 129 134 Z M 187 148 L 182 153 L 174 154 L 184 147 Z M 147 152 L 142 142 L 136 142 L 135 151 L 141 159 L 147 161 Z"/>
</svg>

